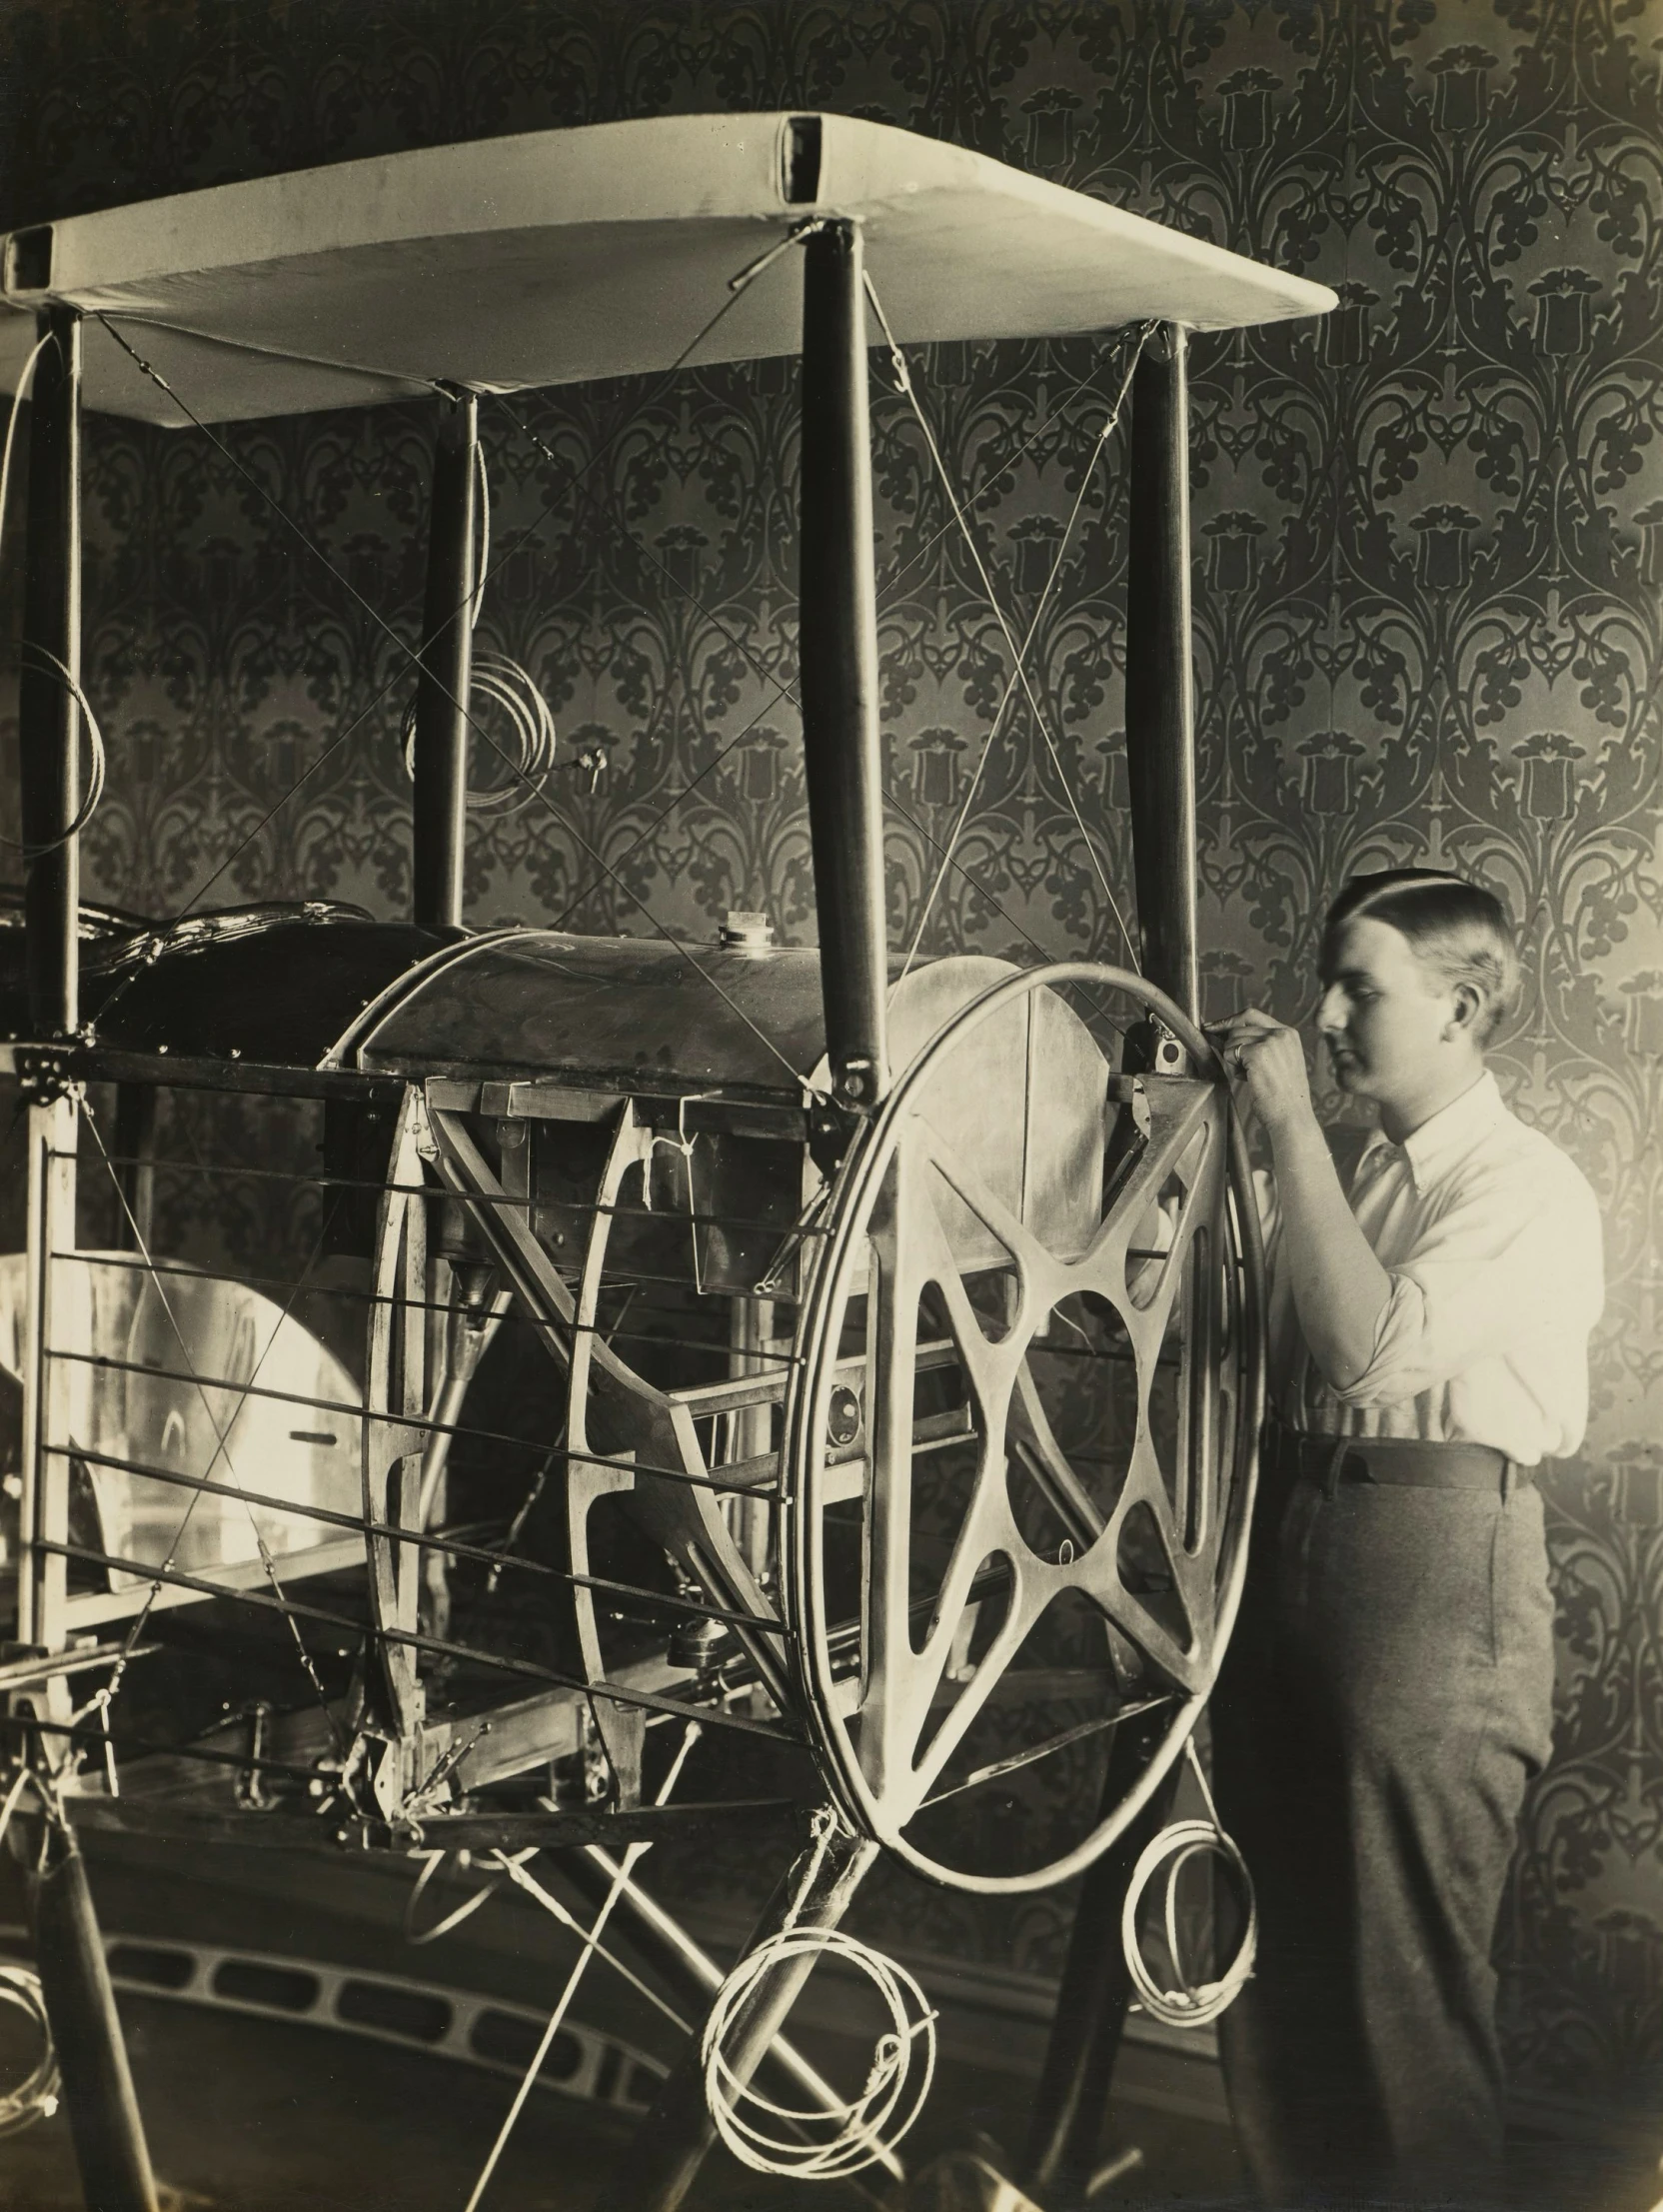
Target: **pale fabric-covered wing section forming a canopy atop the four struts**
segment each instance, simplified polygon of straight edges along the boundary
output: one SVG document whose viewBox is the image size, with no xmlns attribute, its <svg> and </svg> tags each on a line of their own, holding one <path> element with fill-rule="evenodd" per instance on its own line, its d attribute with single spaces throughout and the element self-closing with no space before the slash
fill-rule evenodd
<svg viewBox="0 0 1663 2212">
<path fill-rule="evenodd" d="M 1333 305 L 1327 285 L 849 115 L 666 115 L 181 192 L 11 232 L 0 290 L 108 314 L 212 422 L 794 354 L 796 254 L 732 283 L 814 215 L 865 226 L 900 341 Z M 33 314 L 0 314 L 0 383 L 31 345 Z M 186 422 L 91 321 L 86 405 Z"/>
</svg>

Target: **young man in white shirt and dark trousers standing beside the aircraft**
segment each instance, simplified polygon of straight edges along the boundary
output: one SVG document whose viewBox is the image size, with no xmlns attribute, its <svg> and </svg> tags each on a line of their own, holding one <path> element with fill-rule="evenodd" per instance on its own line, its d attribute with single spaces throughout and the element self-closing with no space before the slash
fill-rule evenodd
<svg viewBox="0 0 1663 2212">
<path fill-rule="evenodd" d="M 1594 1197 L 1484 1066 L 1517 973 L 1477 885 L 1345 885 L 1318 1029 L 1378 1110 L 1349 1188 L 1298 1033 L 1221 1035 L 1274 1164 L 1272 1422 L 1214 1761 L 1261 1909 L 1225 2077 L 1276 2208 L 1502 2194 L 1491 1942 L 1552 1721 L 1530 1469 L 1581 1442 L 1601 1307 Z"/>
</svg>

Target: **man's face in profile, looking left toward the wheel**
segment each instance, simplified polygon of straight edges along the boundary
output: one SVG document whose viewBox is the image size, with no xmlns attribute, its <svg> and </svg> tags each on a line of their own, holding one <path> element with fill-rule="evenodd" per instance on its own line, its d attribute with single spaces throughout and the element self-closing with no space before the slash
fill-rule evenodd
<svg viewBox="0 0 1663 2212">
<path fill-rule="evenodd" d="M 1316 1024 L 1351 1097 L 1413 1097 L 1440 1062 L 1455 1011 L 1444 978 L 1391 922 L 1358 916 L 1322 947 Z"/>
</svg>

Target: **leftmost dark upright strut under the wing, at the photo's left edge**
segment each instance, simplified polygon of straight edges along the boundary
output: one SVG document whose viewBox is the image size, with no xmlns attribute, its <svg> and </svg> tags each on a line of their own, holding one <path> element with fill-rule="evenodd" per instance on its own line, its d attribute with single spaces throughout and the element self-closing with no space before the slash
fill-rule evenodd
<svg viewBox="0 0 1663 2212">
<path fill-rule="evenodd" d="M 80 838 L 64 838 L 80 807 L 82 675 L 82 319 L 42 307 L 29 409 L 29 542 L 18 681 L 22 841 L 33 847 L 24 889 L 29 1026 L 69 1037 L 80 1024 Z M 46 849 L 51 847 L 51 849 Z"/>
</svg>

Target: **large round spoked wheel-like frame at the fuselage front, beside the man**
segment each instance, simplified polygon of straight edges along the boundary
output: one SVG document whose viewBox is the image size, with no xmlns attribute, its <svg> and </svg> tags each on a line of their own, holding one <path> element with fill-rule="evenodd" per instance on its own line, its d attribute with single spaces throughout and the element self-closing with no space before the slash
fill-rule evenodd
<svg viewBox="0 0 1663 2212">
<path fill-rule="evenodd" d="M 1117 1073 L 1146 1015 L 1212 1073 Z M 787 1597 L 843 1809 L 918 1871 L 1064 1880 L 1181 1752 L 1245 1573 L 1261 1312 L 1216 1057 L 1121 969 L 984 991 L 851 1146 L 798 1321 Z"/>
</svg>

